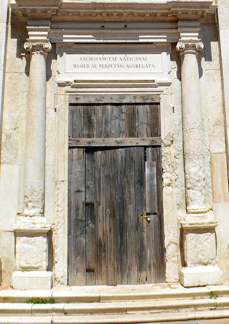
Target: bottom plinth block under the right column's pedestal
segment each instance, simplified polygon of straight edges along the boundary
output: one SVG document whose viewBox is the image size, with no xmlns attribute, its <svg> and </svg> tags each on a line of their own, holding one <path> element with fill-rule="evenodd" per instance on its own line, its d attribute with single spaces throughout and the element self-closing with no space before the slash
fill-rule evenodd
<svg viewBox="0 0 229 324">
<path fill-rule="evenodd" d="M 222 273 L 217 265 L 184 267 L 181 269 L 180 282 L 184 287 L 221 285 Z"/>
</svg>

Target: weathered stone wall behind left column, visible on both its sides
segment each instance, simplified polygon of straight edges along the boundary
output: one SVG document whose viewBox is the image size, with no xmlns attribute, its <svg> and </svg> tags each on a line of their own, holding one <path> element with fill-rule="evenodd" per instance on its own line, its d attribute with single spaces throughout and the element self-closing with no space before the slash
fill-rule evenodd
<svg viewBox="0 0 229 324">
<path fill-rule="evenodd" d="M 30 58 L 23 44 L 26 24 L 10 16 L 6 47 L 5 95 L 3 109 L 1 182 L 0 182 L 0 251 L 3 284 L 10 285 L 15 270 L 15 239 L 12 224 L 23 212 L 24 145 L 26 131 L 27 89 Z M 46 110 L 46 188 L 45 217 L 54 223 L 55 210 L 55 45 L 47 58 Z M 49 266 L 52 269 L 52 236 L 49 236 Z"/>
</svg>

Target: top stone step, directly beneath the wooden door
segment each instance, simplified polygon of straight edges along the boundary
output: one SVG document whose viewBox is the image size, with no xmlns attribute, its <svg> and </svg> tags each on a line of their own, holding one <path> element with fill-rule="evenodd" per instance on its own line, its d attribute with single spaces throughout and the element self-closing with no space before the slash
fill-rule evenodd
<svg viewBox="0 0 229 324">
<path fill-rule="evenodd" d="M 160 286 L 160 287 L 163 287 Z M 32 298 L 54 298 L 55 303 L 98 303 L 173 300 L 186 298 L 209 298 L 210 293 L 229 296 L 229 286 L 207 286 L 197 288 L 155 288 L 145 286 L 87 286 L 52 290 L 0 290 L 0 303 L 25 303 Z"/>
</svg>

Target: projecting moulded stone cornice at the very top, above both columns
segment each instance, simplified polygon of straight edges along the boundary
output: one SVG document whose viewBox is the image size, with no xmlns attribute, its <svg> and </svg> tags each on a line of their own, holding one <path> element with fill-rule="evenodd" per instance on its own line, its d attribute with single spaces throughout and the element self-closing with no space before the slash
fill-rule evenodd
<svg viewBox="0 0 229 324">
<path fill-rule="evenodd" d="M 161 2 L 15 0 L 12 11 L 21 20 L 48 18 L 52 21 L 133 21 L 207 19 L 216 10 L 212 0 L 173 0 Z"/>
</svg>

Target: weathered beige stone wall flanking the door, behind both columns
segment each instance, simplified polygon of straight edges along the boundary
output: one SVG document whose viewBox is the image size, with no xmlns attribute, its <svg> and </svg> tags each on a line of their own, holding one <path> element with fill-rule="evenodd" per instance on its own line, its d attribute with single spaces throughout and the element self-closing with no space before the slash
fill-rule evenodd
<svg viewBox="0 0 229 324">
<path fill-rule="evenodd" d="M 222 0 L 221 0 L 222 1 Z M 227 0 L 224 0 L 225 2 Z M 221 36 L 220 36 L 221 37 Z M 12 224 L 16 214 L 23 211 L 23 168 L 26 127 L 26 103 L 29 58 L 21 57 L 27 38 L 25 23 L 12 21 L 7 38 L 5 101 L 3 113 L 2 160 L 0 182 L 0 251 L 3 265 L 3 284 L 10 285 L 15 270 L 15 239 Z M 205 55 L 199 54 L 202 107 L 206 148 L 206 179 L 209 181 L 207 197 L 213 200 L 213 209 L 219 226 L 217 234 L 217 261 L 228 273 L 228 217 L 229 197 L 227 182 L 227 117 L 225 91 L 222 92 L 218 34 L 215 24 L 202 28 Z M 67 283 L 67 127 L 68 113 L 64 89 L 55 85 L 55 45 L 47 57 L 47 109 L 46 109 L 46 187 L 45 217 L 53 224 L 49 237 L 49 266 L 54 265 L 56 284 Z M 183 264 L 180 220 L 184 219 L 185 183 L 182 139 L 182 104 L 180 57 L 171 46 L 171 76 L 173 84 L 162 99 L 163 181 L 166 279 L 178 281 L 178 269 Z M 222 46 L 221 46 L 222 51 Z M 229 45 L 227 49 L 229 53 Z M 227 74 L 225 73 L 225 76 Z M 188 77 L 188 76 L 187 76 Z M 229 73 L 228 73 L 229 78 Z M 225 78 L 223 79 L 225 80 Z M 228 83 L 229 84 L 229 83 Z M 227 87 L 229 89 L 229 87 Z M 229 90 L 227 90 L 229 91 Z M 228 101 L 229 103 L 229 101 Z M 229 105 L 229 104 L 228 104 Z M 228 115 L 228 116 L 227 116 Z M 224 122 L 225 120 L 225 122 Z M 228 119 L 229 120 L 229 119 Z M 226 130 L 226 132 L 225 132 Z M 211 162 L 211 170 L 208 161 Z M 212 172 L 212 176 L 211 173 Z M 211 191 L 212 187 L 212 191 Z"/>
</svg>

